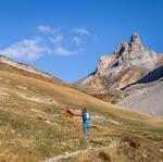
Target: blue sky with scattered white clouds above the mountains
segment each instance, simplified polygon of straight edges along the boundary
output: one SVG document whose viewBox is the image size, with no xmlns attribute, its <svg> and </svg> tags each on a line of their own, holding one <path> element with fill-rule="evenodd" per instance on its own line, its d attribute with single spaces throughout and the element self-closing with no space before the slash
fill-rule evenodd
<svg viewBox="0 0 163 162">
<path fill-rule="evenodd" d="M 162 0 L 0 0 L 0 52 L 73 83 L 137 32 L 163 52 Z"/>
</svg>

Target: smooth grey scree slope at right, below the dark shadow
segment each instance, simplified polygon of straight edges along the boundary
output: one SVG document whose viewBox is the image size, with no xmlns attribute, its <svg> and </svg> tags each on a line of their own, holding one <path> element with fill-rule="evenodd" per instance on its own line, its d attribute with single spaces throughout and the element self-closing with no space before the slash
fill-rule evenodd
<svg viewBox="0 0 163 162">
<path fill-rule="evenodd" d="M 131 90 L 133 88 L 133 90 Z M 118 105 L 138 112 L 163 116 L 163 80 L 130 87 L 129 96 Z"/>
</svg>

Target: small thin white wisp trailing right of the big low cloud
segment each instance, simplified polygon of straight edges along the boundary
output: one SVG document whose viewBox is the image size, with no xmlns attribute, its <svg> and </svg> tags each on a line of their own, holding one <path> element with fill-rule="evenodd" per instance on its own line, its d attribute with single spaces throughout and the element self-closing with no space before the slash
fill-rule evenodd
<svg viewBox="0 0 163 162">
<path fill-rule="evenodd" d="M 57 54 L 57 55 L 72 55 L 77 53 L 76 51 L 71 51 L 66 48 L 63 47 L 57 47 L 53 51 L 51 51 L 52 54 Z"/>
</svg>

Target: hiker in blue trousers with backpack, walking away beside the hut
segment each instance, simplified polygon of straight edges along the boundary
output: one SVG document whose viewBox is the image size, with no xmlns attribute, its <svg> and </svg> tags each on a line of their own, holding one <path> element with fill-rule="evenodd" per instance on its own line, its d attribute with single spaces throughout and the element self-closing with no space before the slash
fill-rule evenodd
<svg viewBox="0 0 163 162">
<path fill-rule="evenodd" d="M 88 128 L 90 128 L 90 114 L 87 112 L 86 108 L 83 109 L 82 117 L 83 117 L 83 132 L 84 135 L 87 135 Z"/>
</svg>

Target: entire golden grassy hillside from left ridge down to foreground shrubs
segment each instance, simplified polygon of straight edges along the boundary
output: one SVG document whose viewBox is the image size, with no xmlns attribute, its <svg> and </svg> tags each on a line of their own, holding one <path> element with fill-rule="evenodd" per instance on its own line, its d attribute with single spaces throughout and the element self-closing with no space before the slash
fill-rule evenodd
<svg viewBox="0 0 163 162">
<path fill-rule="evenodd" d="M 11 62 L 0 60 L 0 161 L 41 161 L 80 150 L 101 161 L 104 154 L 113 161 L 163 159 L 161 119 L 106 103 Z M 90 139 L 83 138 L 80 120 L 62 117 L 67 108 L 90 111 Z M 79 155 L 85 153 L 65 161 L 79 161 Z"/>
</svg>

